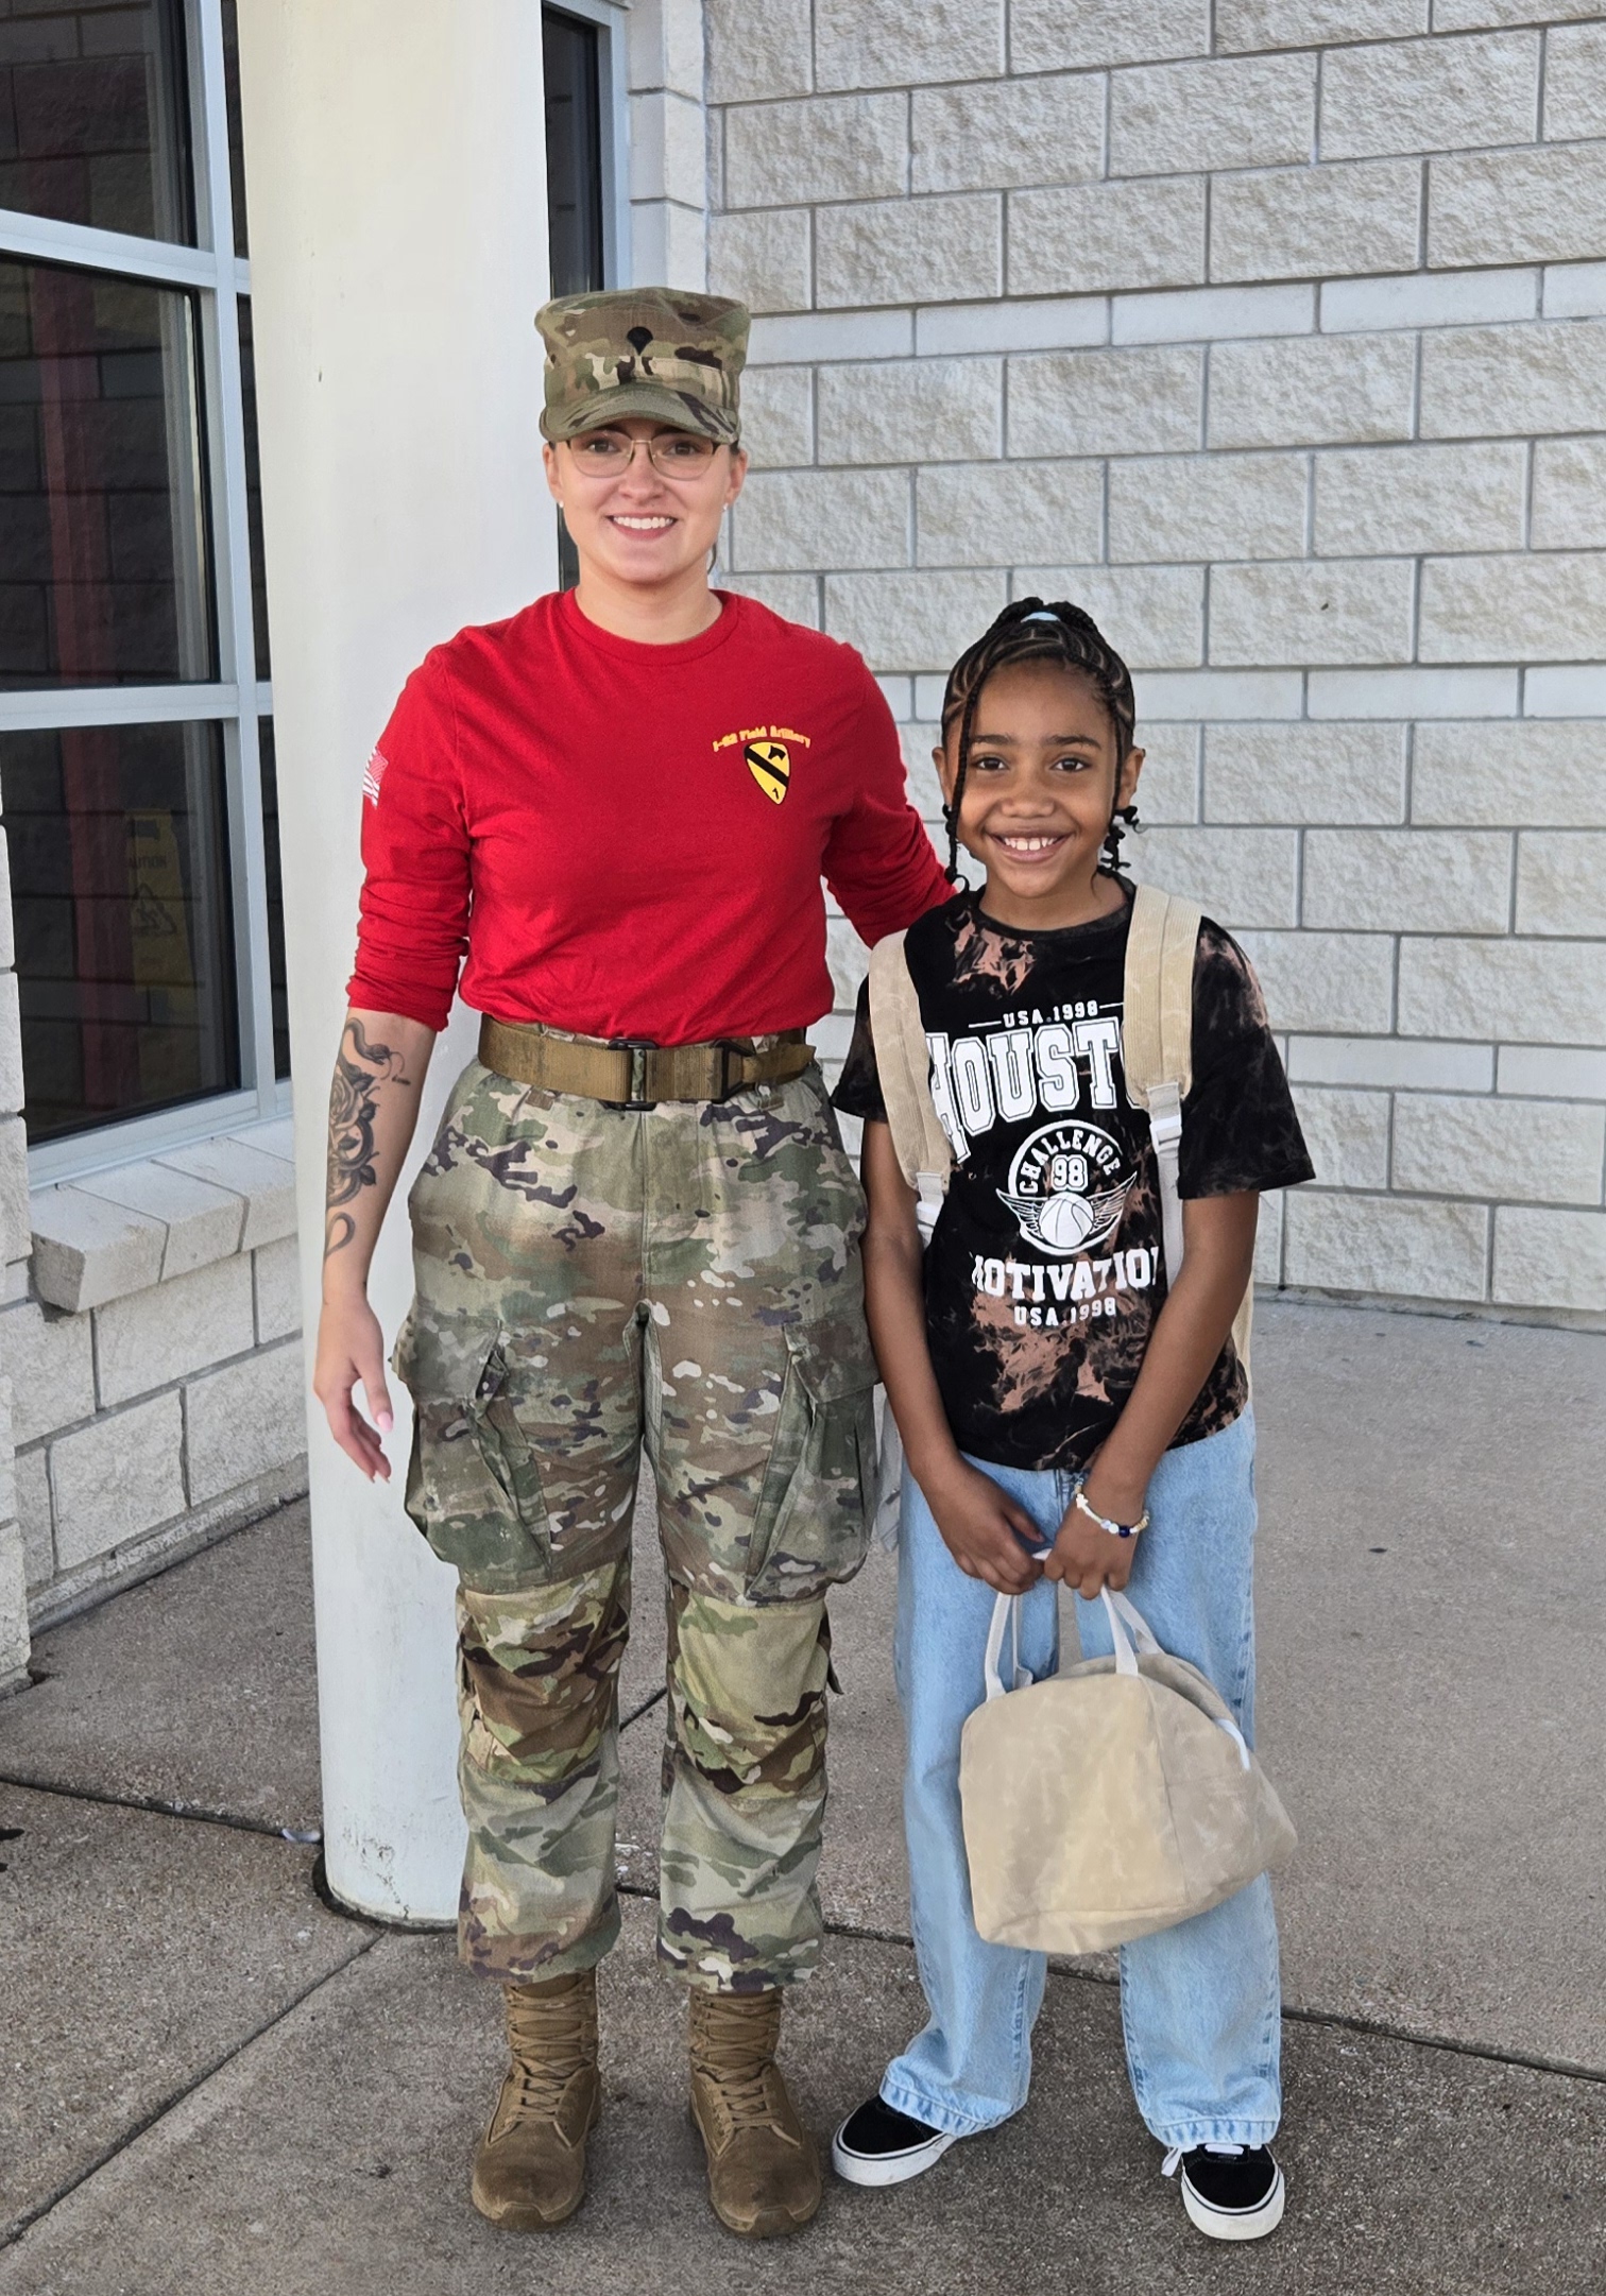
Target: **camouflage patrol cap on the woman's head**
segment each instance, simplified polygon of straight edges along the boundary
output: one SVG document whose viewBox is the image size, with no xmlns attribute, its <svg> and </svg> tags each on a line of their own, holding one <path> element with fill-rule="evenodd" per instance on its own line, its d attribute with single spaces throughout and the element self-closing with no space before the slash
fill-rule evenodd
<svg viewBox="0 0 1606 2296">
<path fill-rule="evenodd" d="M 540 418 L 547 439 L 650 416 L 735 445 L 744 303 L 675 287 L 620 287 L 542 303 L 535 326 L 547 344 Z"/>
</svg>

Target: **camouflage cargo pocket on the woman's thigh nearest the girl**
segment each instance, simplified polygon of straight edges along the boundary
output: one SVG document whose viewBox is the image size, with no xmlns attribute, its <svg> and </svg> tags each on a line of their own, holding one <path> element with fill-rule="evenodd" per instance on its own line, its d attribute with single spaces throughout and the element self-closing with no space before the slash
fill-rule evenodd
<svg viewBox="0 0 1606 2296">
<path fill-rule="evenodd" d="M 747 1550 L 754 1603 L 806 1600 L 864 1561 L 875 1518 L 875 1357 L 862 1316 L 788 1329 L 770 1469 Z"/>
</svg>

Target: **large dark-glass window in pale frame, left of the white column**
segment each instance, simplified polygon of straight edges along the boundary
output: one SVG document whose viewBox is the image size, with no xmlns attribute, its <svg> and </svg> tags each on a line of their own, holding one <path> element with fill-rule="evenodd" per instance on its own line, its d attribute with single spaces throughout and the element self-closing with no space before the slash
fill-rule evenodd
<svg viewBox="0 0 1606 2296">
<path fill-rule="evenodd" d="M 51 1176 L 289 1070 L 241 158 L 234 0 L 0 0 L 0 810 Z"/>
</svg>

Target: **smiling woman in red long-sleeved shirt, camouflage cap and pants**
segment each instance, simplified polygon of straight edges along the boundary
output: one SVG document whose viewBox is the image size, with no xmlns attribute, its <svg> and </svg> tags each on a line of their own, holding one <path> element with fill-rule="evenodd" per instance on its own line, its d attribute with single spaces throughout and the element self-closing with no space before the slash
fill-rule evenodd
<svg viewBox="0 0 1606 2296">
<path fill-rule="evenodd" d="M 820 2202 L 774 2050 L 820 1952 L 825 1591 L 873 1502 L 864 1210 L 804 1040 L 832 1003 L 820 877 L 866 941 L 949 886 L 859 657 L 710 590 L 744 308 L 641 287 L 538 326 L 579 588 L 427 654 L 363 781 L 315 1387 L 386 1476 L 365 1277 L 462 964 L 480 1056 L 411 1192 L 395 1371 L 407 1508 L 460 1573 L 460 1949 L 508 2002 L 473 2202 L 535 2229 L 584 2195 L 646 1444 L 657 1949 L 689 1988 L 712 2206 L 765 2236 Z"/>
</svg>

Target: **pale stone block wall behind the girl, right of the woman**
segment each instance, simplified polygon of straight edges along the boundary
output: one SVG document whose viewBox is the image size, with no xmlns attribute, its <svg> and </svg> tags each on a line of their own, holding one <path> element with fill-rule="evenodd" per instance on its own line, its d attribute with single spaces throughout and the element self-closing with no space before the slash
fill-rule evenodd
<svg viewBox="0 0 1606 2296">
<path fill-rule="evenodd" d="M 864 650 L 933 817 L 958 647 L 1029 590 L 1107 627 L 1135 866 L 1248 944 L 1321 1171 L 1268 1205 L 1271 1281 L 1606 1304 L 1606 23 L 1572 14 L 705 7 L 710 287 L 763 315 L 733 579 Z M 839 928 L 843 1008 L 859 967 Z"/>
</svg>

